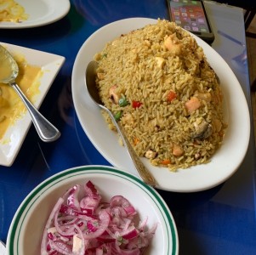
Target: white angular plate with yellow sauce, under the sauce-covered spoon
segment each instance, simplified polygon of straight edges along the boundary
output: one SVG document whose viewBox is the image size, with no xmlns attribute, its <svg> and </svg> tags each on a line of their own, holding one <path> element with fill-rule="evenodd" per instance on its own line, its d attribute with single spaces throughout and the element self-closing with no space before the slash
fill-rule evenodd
<svg viewBox="0 0 256 255">
<path fill-rule="evenodd" d="M 31 48 L 24 48 L 13 44 L 0 42 L 10 53 L 23 55 L 29 65 L 41 66 L 43 76 L 40 79 L 40 94 L 37 95 L 33 105 L 37 108 L 43 103 L 43 99 L 48 93 L 48 89 L 54 82 L 54 78 L 60 71 L 65 58 L 55 54 L 48 54 Z M 0 165 L 11 166 L 17 156 L 21 144 L 26 138 L 26 133 L 31 126 L 31 116 L 26 114 L 10 126 L 0 141 Z"/>
</svg>

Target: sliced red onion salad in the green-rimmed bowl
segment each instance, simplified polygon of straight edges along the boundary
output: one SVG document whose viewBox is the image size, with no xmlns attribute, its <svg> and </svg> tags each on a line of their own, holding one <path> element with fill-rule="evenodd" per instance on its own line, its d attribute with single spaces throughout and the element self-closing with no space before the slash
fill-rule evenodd
<svg viewBox="0 0 256 255">
<path fill-rule="evenodd" d="M 81 197 L 82 193 L 82 198 Z M 41 255 L 139 255 L 156 231 L 122 195 L 102 201 L 91 181 L 59 198 L 43 230 Z M 139 222 L 139 224 L 137 224 Z"/>
</svg>

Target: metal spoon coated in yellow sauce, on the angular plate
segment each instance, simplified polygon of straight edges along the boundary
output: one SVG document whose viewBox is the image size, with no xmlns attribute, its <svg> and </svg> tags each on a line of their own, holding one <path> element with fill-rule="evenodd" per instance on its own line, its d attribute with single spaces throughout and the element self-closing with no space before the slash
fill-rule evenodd
<svg viewBox="0 0 256 255">
<path fill-rule="evenodd" d="M 1 68 L 1 66 L 3 68 Z M 27 110 L 31 115 L 32 122 L 37 129 L 37 133 L 44 142 L 52 142 L 60 137 L 60 131 L 53 124 L 31 105 L 31 102 L 23 94 L 15 79 L 19 74 L 19 67 L 9 51 L 0 45 L 0 82 L 9 84 L 14 88 L 20 99 L 26 105 Z"/>
</svg>

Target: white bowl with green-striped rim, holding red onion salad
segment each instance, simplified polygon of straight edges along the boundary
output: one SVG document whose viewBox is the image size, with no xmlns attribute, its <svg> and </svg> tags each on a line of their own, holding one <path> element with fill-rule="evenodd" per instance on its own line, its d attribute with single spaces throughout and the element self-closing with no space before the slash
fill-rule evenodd
<svg viewBox="0 0 256 255">
<path fill-rule="evenodd" d="M 179 241 L 174 218 L 162 197 L 134 175 L 103 166 L 65 170 L 32 190 L 11 223 L 7 239 L 8 254 L 40 254 L 43 228 L 56 201 L 74 184 L 84 184 L 88 180 L 95 184 L 105 200 L 113 195 L 126 197 L 139 212 L 140 219 L 148 217 L 148 227 L 157 223 L 156 234 L 145 254 L 178 254 Z"/>
</svg>

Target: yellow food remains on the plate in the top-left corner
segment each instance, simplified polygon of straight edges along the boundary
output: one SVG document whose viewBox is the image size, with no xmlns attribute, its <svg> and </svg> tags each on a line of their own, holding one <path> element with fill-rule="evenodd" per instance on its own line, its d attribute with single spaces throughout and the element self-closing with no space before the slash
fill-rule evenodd
<svg viewBox="0 0 256 255">
<path fill-rule="evenodd" d="M 27 20 L 25 8 L 14 0 L 0 0 L 0 21 L 20 22 Z"/>
</svg>

